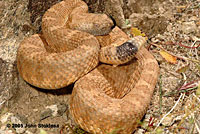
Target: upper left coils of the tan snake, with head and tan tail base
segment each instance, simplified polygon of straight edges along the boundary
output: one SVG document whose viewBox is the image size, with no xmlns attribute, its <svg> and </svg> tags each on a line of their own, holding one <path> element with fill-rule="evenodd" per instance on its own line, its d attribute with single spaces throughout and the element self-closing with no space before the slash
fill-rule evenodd
<svg viewBox="0 0 200 134">
<path fill-rule="evenodd" d="M 85 27 L 83 31 L 94 35 L 104 35 L 111 31 L 111 19 L 104 14 L 89 14 L 87 10 L 87 5 L 81 0 L 66 0 L 44 14 L 43 36 L 35 34 L 26 38 L 18 48 L 17 67 L 25 81 L 39 88 L 58 89 L 87 74 L 98 65 L 99 60 L 122 64 L 134 57 L 134 54 L 117 55 L 115 45 L 119 41 L 110 44 L 110 35 L 95 38 L 89 33 L 74 30 L 78 26 Z M 75 13 L 82 16 L 77 18 Z M 74 22 L 73 18 L 77 21 Z M 83 20 L 87 22 L 77 23 Z M 104 46 L 101 51 L 99 44 Z"/>
</svg>

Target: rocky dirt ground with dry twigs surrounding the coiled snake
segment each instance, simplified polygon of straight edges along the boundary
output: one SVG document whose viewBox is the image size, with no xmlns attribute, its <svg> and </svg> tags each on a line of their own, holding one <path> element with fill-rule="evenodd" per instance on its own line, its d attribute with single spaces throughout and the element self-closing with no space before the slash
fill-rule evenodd
<svg viewBox="0 0 200 134">
<path fill-rule="evenodd" d="M 42 90 L 26 83 L 16 68 L 20 42 L 41 33 L 42 15 L 59 1 L 0 0 L 0 134 L 87 133 L 69 114 L 73 85 Z M 127 34 L 138 34 L 133 27 L 144 33 L 159 63 L 151 104 L 134 133 L 200 133 L 200 0 L 85 2 L 90 12 L 111 15 Z"/>
</svg>

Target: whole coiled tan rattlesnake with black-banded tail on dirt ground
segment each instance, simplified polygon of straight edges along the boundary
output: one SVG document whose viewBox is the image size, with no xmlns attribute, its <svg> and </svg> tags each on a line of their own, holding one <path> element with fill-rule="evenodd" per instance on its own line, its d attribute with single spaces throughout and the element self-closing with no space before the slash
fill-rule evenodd
<svg viewBox="0 0 200 134">
<path fill-rule="evenodd" d="M 157 61 L 143 47 L 146 40 L 130 39 L 105 14 L 88 13 L 81 0 L 64 0 L 47 10 L 42 32 L 18 48 L 22 78 L 44 89 L 75 82 L 70 113 L 77 124 L 95 134 L 132 133 L 159 74 Z"/>
</svg>

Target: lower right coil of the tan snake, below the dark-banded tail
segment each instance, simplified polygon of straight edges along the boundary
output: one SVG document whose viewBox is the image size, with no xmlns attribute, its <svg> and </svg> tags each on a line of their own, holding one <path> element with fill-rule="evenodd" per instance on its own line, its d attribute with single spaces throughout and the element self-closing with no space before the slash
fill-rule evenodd
<svg viewBox="0 0 200 134">
<path fill-rule="evenodd" d="M 128 38 L 114 31 L 112 40 L 119 33 Z M 94 134 L 131 134 L 146 113 L 158 75 L 158 63 L 144 47 L 126 64 L 101 64 L 75 83 L 71 115 L 81 128 Z"/>
</svg>

